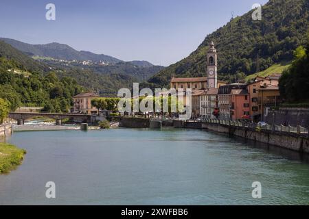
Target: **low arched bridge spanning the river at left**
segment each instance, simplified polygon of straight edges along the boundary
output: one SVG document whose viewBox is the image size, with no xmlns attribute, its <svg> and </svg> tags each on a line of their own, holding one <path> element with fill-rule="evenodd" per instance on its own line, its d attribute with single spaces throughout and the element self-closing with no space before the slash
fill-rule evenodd
<svg viewBox="0 0 309 219">
<path fill-rule="evenodd" d="M 56 125 L 61 125 L 62 119 L 69 118 L 76 123 L 93 123 L 95 116 L 87 114 L 59 114 L 59 113 L 41 113 L 41 112 L 10 112 L 9 118 L 17 120 L 17 125 L 25 124 L 25 120 L 35 117 L 53 118 Z"/>
</svg>

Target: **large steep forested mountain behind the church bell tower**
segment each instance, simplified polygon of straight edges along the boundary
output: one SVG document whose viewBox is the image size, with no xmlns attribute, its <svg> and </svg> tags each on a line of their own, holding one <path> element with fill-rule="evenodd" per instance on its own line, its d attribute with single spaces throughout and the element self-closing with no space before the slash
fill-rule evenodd
<svg viewBox="0 0 309 219">
<path fill-rule="evenodd" d="M 290 62 L 293 51 L 305 42 L 309 1 L 270 0 L 262 7 L 262 21 L 253 21 L 252 13 L 253 10 L 231 19 L 209 34 L 196 51 L 164 68 L 148 82 L 168 86 L 172 76 L 205 76 L 211 40 L 218 51 L 218 77 L 229 82 L 266 70 L 273 64 Z"/>
</svg>

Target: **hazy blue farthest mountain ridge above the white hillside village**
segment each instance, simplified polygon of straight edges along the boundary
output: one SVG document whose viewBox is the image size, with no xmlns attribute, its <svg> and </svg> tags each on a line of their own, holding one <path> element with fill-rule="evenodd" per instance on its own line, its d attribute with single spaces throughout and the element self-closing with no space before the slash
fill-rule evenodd
<svg viewBox="0 0 309 219">
<path fill-rule="evenodd" d="M 12 47 L 27 53 L 28 55 L 38 55 L 41 57 L 52 57 L 57 60 L 92 60 L 93 62 L 108 62 L 115 64 L 121 62 L 115 57 L 109 55 L 98 55 L 89 51 L 77 51 L 67 44 L 60 44 L 58 42 L 52 42 L 48 44 L 28 44 L 18 40 L 9 38 L 0 38 L 4 42 L 11 44 Z"/>
</svg>

